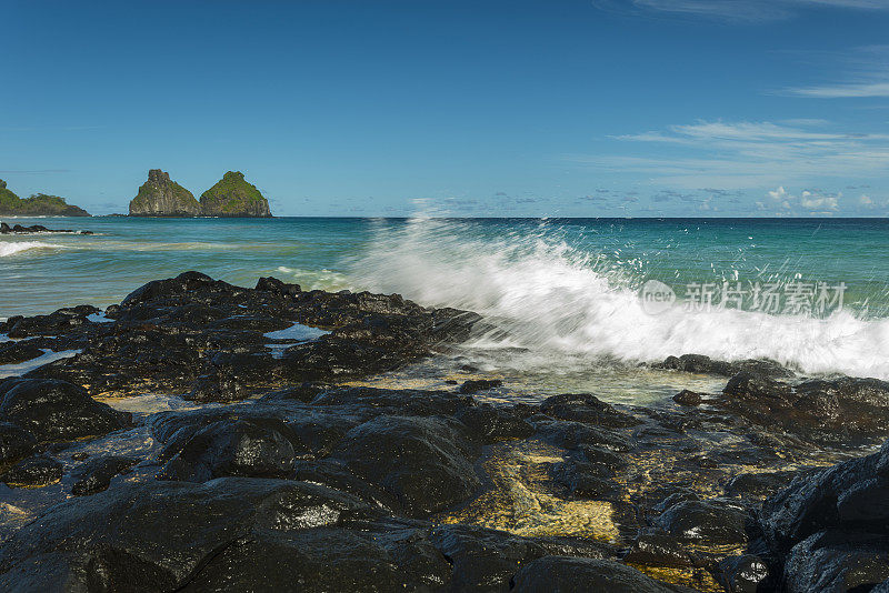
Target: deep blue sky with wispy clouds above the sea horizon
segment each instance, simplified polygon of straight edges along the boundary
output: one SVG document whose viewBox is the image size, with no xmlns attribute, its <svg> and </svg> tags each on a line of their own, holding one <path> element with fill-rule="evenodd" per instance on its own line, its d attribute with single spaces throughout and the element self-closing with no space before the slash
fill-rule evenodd
<svg viewBox="0 0 889 593">
<path fill-rule="evenodd" d="M 0 178 L 279 215 L 889 214 L 889 1 L 0 0 Z"/>
</svg>

